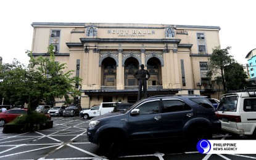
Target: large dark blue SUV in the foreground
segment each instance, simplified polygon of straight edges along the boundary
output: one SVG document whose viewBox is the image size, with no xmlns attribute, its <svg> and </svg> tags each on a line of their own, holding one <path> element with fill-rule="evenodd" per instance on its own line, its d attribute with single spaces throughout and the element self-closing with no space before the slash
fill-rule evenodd
<svg viewBox="0 0 256 160">
<path fill-rule="evenodd" d="M 212 139 L 221 131 L 215 108 L 200 95 L 160 95 L 134 104 L 124 113 L 97 116 L 90 120 L 87 138 L 106 156 L 133 144 Z M 195 145 L 196 146 L 196 145 Z"/>
</svg>

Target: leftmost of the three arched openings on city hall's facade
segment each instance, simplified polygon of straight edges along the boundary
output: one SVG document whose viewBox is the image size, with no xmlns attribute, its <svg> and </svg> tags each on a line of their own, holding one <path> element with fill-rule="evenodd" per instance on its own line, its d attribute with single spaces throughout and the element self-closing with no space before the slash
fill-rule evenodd
<svg viewBox="0 0 256 160">
<path fill-rule="evenodd" d="M 102 61 L 102 86 L 117 86 L 117 63 L 114 58 L 107 57 Z"/>
</svg>

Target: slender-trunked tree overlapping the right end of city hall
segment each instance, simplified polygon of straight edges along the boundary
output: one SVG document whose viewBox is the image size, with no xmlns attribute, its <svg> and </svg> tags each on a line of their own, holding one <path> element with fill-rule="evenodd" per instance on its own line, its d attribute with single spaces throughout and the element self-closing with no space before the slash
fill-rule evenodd
<svg viewBox="0 0 256 160">
<path fill-rule="evenodd" d="M 234 62 L 232 55 L 229 55 L 228 50 L 231 47 L 226 47 L 226 49 L 220 49 L 220 47 L 215 47 L 212 52 L 212 57 L 210 57 L 209 71 L 207 75 L 217 75 L 220 74 L 221 84 L 223 84 L 223 90 L 226 92 L 226 82 L 224 70 L 225 67 Z"/>
</svg>

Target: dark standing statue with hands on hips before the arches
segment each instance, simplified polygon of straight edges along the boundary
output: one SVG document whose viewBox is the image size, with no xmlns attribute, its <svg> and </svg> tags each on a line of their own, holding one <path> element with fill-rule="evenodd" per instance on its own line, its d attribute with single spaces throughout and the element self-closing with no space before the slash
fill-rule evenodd
<svg viewBox="0 0 256 160">
<path fill-rule="evenodd" d="M 141 65 L 141 70 L 137 70 L 133 76 L 139 81 L 138 101 L 141 100 L 141 90 L 143 86 L 144 97 L 147 98 L 147 80 L 151 77 L 149 71 L 144 70 L 144 65 Z"/>
</svg>

